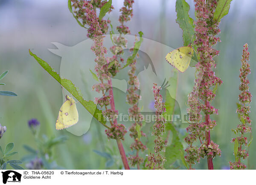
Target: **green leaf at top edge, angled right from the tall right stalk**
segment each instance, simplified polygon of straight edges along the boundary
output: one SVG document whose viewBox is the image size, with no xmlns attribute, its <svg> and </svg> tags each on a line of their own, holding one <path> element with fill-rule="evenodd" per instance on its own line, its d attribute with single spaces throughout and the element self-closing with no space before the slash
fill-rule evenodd
<svg viewBox="0 0 256 185">
<path fill-rule="evenodd" d="M 213 19 L 218 22 L 228 14 L 228 11 L 230 9 L 230 3 L 232 0 L 219 0 L 218 5 L 215 9 Z"/>
</svg>

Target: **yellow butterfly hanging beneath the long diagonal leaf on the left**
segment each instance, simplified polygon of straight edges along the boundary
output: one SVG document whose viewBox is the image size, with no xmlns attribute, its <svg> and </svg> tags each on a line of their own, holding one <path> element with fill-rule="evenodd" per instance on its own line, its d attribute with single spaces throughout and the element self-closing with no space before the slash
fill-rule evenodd
<svg viewBox="0 0 256 185">
<path fill-rule="evenodd" d="M 78 122 L 78 111 L 76 102 L 72 97 L 66 95 L 66 101 L 61 106 L 56 121 L 56 130 L 62 130 L 75 125 Z"/>
</svg>

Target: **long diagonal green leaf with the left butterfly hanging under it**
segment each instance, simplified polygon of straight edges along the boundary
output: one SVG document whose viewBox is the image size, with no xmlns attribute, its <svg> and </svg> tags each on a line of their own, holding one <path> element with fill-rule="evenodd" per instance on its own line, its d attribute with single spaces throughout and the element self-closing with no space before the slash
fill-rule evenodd
<svg viewBox="0 0 256 185">
<path fill-rule="evenodd" d="M 93 117 L 98 120 L 102 125 L 105 125 L 106 120 L 102 115 L 102 111 L 100 111 L 96 106 L 96 104 L 89 100 L 84 100 L 83 96 L 81 94 L 81 91 L 79 88 L 77 88 L 72 82 L 71 80 L 67 80 L 65 78 L 61 78 L 60 75 L 54 71 L 54 69 L 44 60 L 42 60 L 41 58 L 37 57 L 35 54 L 33 54 L 30 50 L 29 50 L 29 54 L 35 58 L 35 60 L 37 60 L 37 62 L 55 79 L 57 80 L 58 83 L 60 83 L 67 91 L 69 91 L 70 93 L 72 93 L 73 97 L 75 97 L 80 103 L 81 105 L 84 106 L 84 108 L 86 108 L 86 110 L 93 115 Z"/>
</svg>

